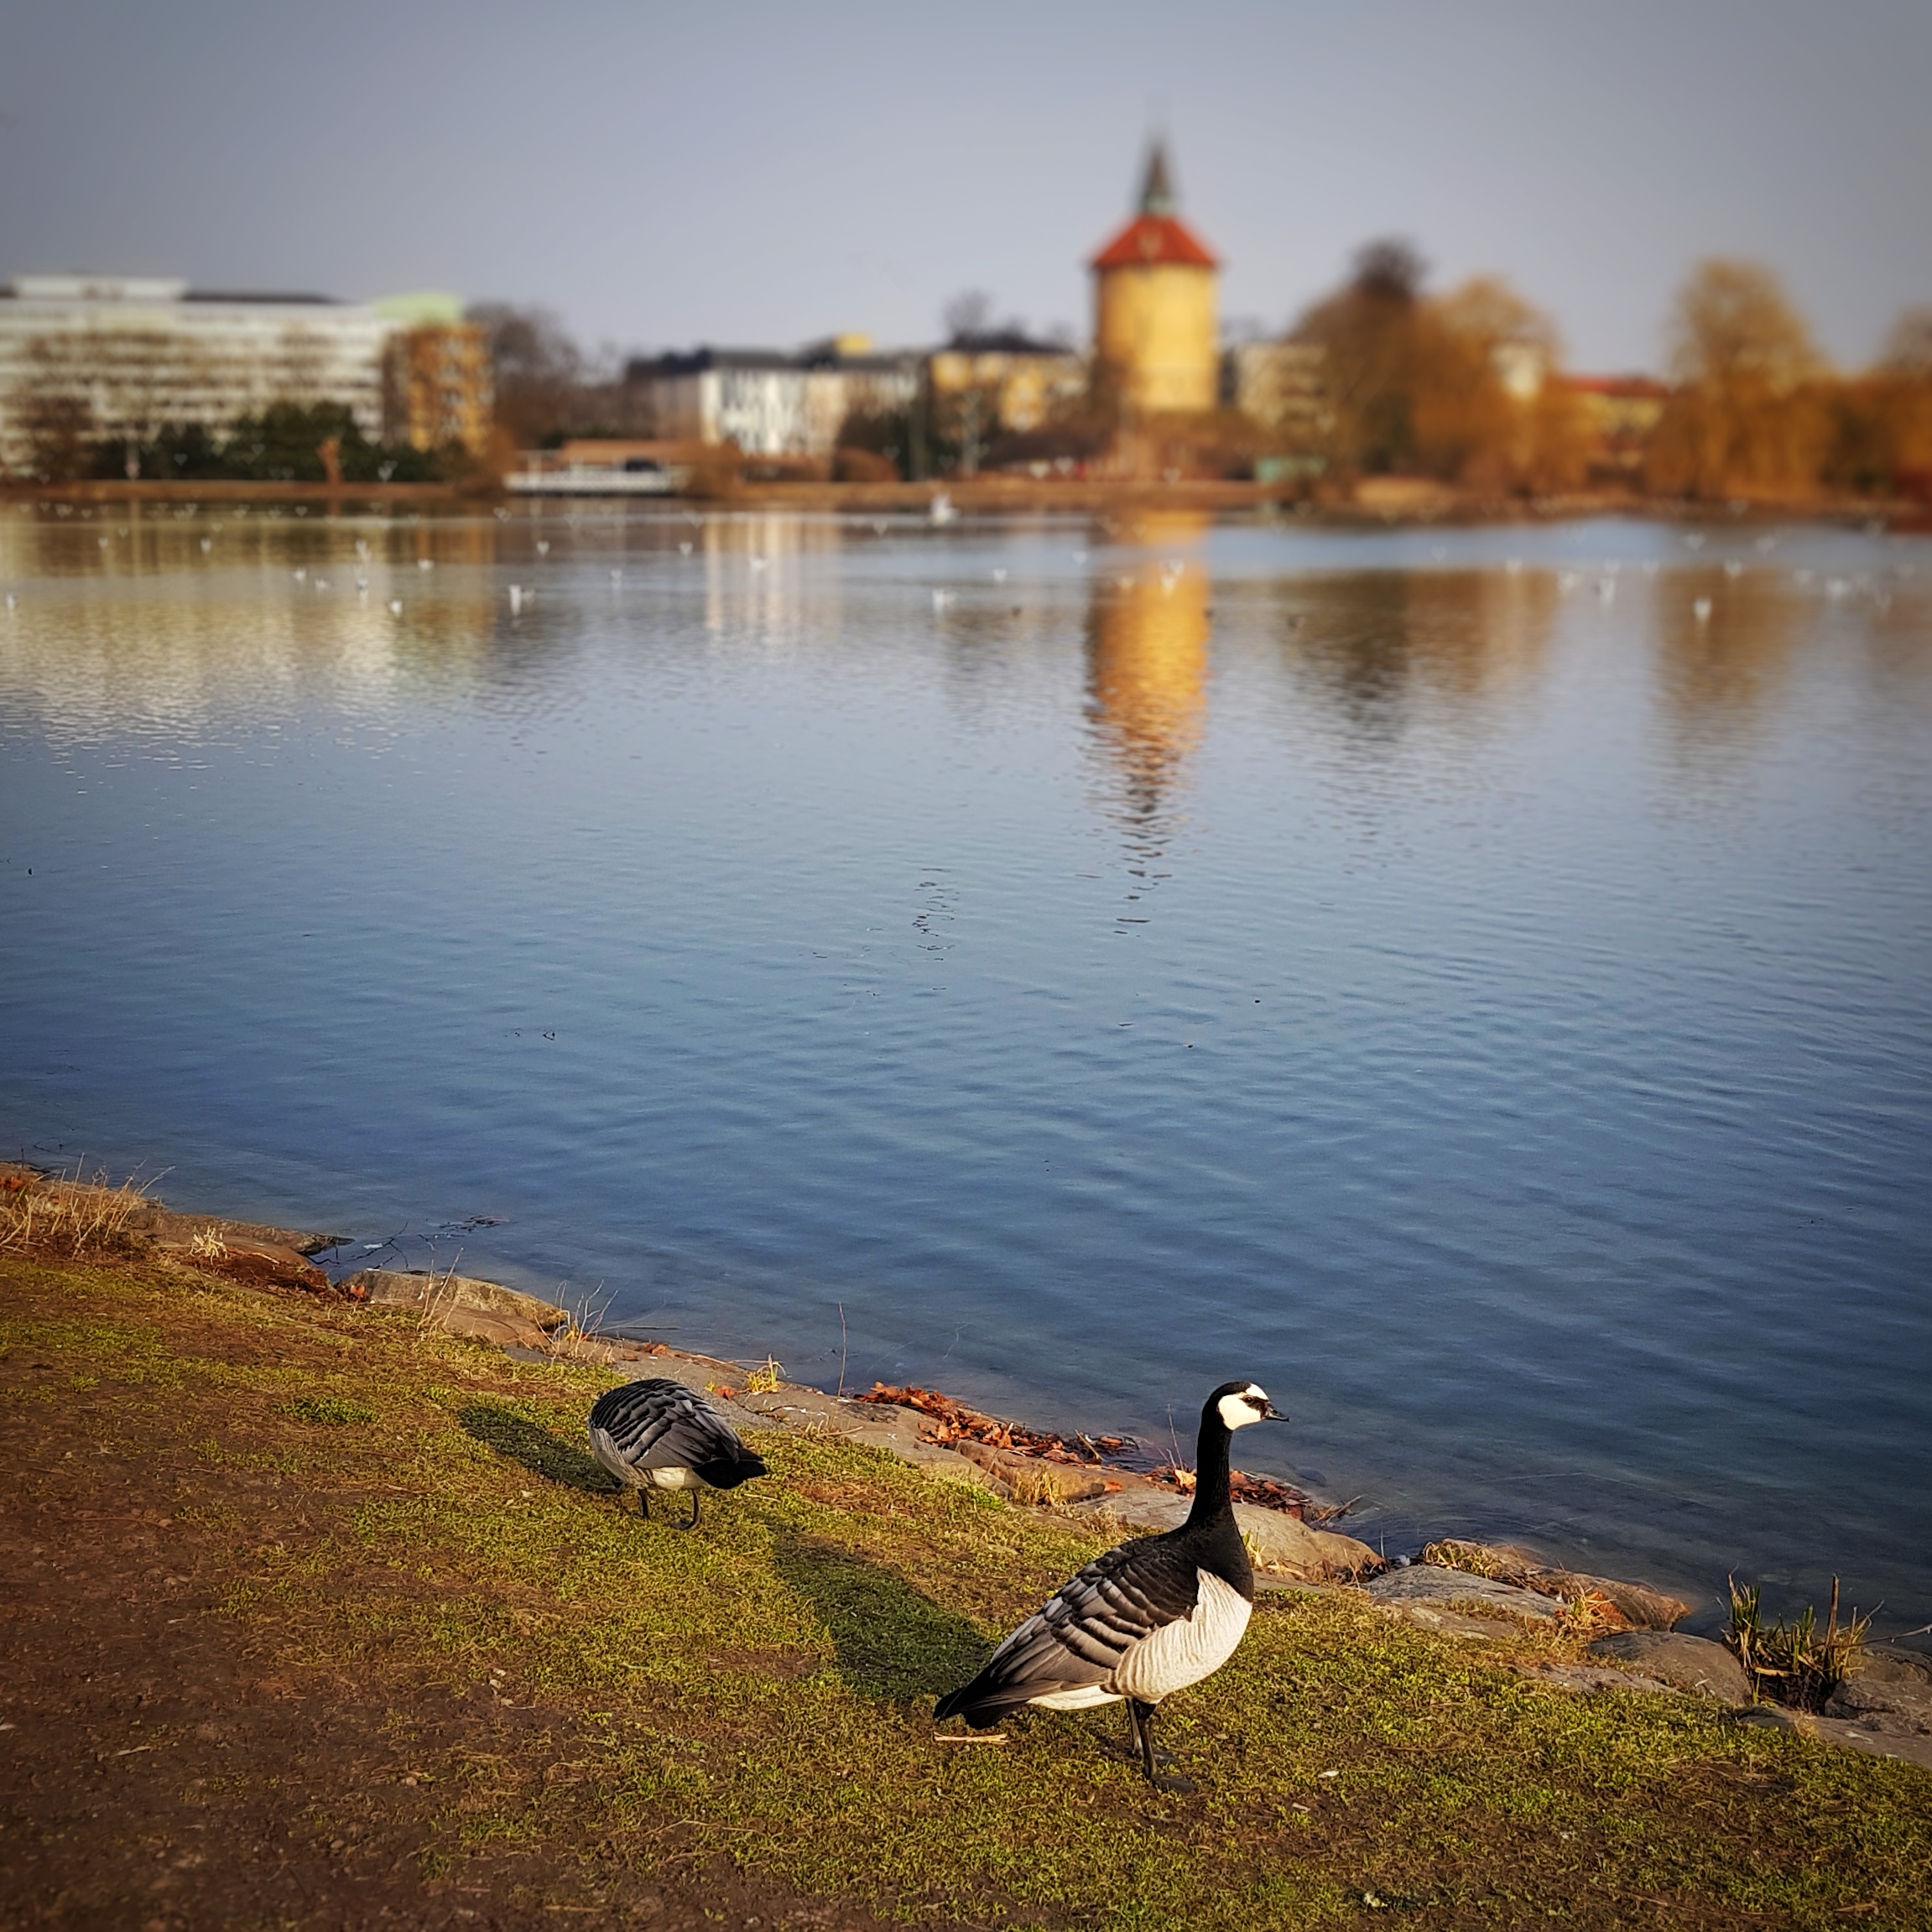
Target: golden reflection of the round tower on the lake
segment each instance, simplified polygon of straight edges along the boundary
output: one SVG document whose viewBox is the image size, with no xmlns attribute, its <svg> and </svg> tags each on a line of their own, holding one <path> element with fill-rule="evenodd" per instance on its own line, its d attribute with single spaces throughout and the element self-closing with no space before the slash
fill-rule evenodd
<svg viewBox="0 0 1932 1932">
<path fill-rule="evenodd" d="M 1088 696 L 1136 817 L 1159 810 L 1208 715 L 1208 572 L 1192 554 L 1206 527 L 1206 516 L 1148 516 L 1132 574 L 1094 580 Z"/>
</svg>

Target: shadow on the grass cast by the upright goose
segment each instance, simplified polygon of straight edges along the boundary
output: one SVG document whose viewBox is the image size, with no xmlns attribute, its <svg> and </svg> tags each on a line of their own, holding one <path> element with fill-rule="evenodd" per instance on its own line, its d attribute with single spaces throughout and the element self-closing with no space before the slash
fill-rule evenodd
<svg viewBox="0 0 1932 1932">
<path fill-rule="evenodd" d="M 817 1613 L 838 1675 L 881 1704 L 931 1702 L 966 1683 L 991 1646 L 896 1571 L 817 1536 L 781 1534 L 773 1569 Z"/>
</svg>

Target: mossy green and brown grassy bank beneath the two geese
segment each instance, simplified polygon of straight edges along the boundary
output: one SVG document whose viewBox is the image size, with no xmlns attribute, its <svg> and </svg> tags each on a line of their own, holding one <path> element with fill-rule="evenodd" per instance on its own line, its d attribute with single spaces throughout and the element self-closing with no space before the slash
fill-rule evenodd
<svg viewBox="0 0 1932 1932">
<path fill-rule="evenodd" d="M 1099 1548 L 1070 1522 L 773 1432 L 771 1478 L 680 1536 L 583 1455 L 603 1370 L 139 1260 L 0 1258 L 0 1316 L 14 1922 L 106 1922 L 153 1861 L 187 1897 L 255 1833 L 506 1924 L 632 1922 L 651 1886 L 765 1888 L 765 1924 L 1932 1924 L 1932 1776 L 1507 1669 L 1549 1638 L 1269 1596 L 1169 1706 L 1202 1789 L 1163 1797 L 1117 1710 L 935 1743 L 933 1694 Z M 100 1654 L 145 1646 L 155 1687 L 97 1708 L 48 1646 L 124 1613 Z M 336 1745 L 205 1735 L 265 1698 Z"/>
</svg>

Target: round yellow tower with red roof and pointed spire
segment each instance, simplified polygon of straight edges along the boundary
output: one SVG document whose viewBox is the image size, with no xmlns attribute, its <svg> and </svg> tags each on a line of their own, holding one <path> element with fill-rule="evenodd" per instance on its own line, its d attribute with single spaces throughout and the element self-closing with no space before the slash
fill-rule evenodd
<svg viewBox="0 0 1932 1932">
<path fill-rule="evenodd" d="M 1155 143 L 1140 213 L 1095 257 L 1094 352 L 1140 415 L 1211 410 L 1219 398 L 1221 265 L 1175 214 Z"/>
</svg>

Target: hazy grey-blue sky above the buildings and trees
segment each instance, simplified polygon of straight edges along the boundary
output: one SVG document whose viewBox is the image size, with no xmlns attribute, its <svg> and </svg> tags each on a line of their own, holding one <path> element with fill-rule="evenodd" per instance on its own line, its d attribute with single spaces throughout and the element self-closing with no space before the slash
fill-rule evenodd
<svg viewBox="0 0 1932 1932">
<path fill-rule="evenodd" d="M 541 301 L 587 340 L 1088 325 L 1150 120 L 1285 323 L 1378 234 L 1654 365 L 1700 255 L 1932 303 L 1926 0 L 0 0 L 0 276 Z"/>
</svg>

